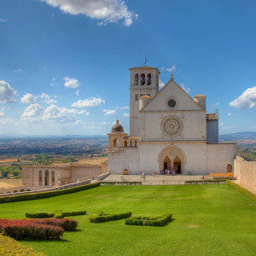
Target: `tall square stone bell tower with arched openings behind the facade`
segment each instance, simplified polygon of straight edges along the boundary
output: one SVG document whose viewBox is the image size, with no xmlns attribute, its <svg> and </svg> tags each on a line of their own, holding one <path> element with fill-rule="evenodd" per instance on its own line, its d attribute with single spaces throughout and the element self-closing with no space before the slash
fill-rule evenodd
<svg viewBox="0 0 256 256">
<path fill-rule="evenodd" d="M 154 97 L 159 90 L 159 70 L 156 67 L 130 68 L 130 136 L 138 136 L 138 111 L 141 96 Z"/>
</svg>

